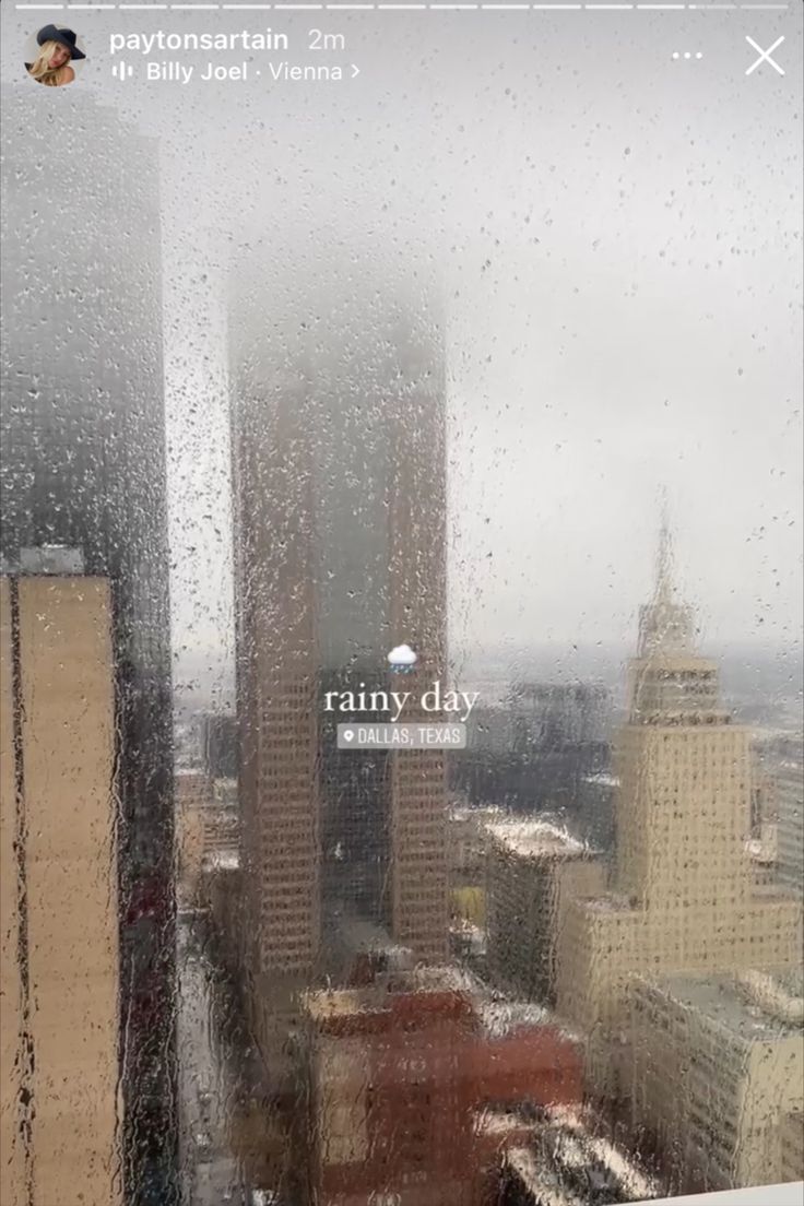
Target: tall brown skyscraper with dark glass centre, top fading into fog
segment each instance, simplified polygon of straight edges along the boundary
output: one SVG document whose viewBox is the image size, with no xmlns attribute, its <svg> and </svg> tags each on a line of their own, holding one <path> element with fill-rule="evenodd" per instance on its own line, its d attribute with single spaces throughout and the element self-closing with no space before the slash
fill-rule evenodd
<svg viewBox="0 0 804 1206">
<path fill-rule="evenodd" d="M 237 673 L 248 950 L 274 999 L 325 967 L 354 918 L 422 960 L 447 944 L 444 755 L 335 749 L 325 692 L 413 696 L 445 660 L 442 349 L 428 299 L 369 252 L 254 260 L 233 303 Z M 297 260 L 303 259 L 297 252 Z M 359 283 L 354 283 L 359 280 Z M 266 315 L 270 315 L 266 317 Z M 382 719 L 388 719 L 383 716 Z M 406 713 L 405 719 L 417 719 Z"/>
</svg>

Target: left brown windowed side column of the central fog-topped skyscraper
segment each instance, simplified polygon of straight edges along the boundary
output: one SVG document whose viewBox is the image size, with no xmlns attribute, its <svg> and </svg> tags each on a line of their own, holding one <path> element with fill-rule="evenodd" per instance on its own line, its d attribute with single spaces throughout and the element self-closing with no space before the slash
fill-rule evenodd
<svg viewBox="0 0 804 1206">
<path fill-rule="evenodd" d="M 241 955 L 254 1034 L 282 1079 L 321 941 L 318 692 L 310 406 L 300 384 L 266 377 L 233 422 Z"/>
</svg>

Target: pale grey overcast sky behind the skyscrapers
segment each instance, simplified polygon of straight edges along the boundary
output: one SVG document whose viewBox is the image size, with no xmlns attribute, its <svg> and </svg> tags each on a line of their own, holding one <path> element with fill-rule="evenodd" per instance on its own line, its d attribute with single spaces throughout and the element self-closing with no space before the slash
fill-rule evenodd
<svg viewBox="0 0 804 1206">
<path fill-rule="evenodd" d="M 66 14 L 4 10 L 10 78 L 23 31 Z M 160 140 L 180 651 L 230 651 L 231 248 L 275 241 L 292 271 L 288 226 L 322 213 L 436 260 L 456 650 L 633 644 L 662 486 L 710 639 L 798 643 L 800 14 L 70 13 L 72 87 Z M 127 54 L 111 77 L 111 31 L 265 18 L 292 40 L 265 59 L 359 76 L 182 88 Z M 313 25 L 346 51 L 305 53 Z M 785 76 L 746 77 L 746 35 L 782 34 Z"/>
</svg>

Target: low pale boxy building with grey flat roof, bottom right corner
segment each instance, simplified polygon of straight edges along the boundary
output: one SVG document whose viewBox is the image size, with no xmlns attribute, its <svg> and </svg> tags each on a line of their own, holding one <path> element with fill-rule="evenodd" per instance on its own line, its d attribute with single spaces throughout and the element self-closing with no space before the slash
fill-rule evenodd
<svg viewBox="0 0 804 1206">
<path fill-rule="evenodd" d="M 638 1125 L 682 1190 L 804 1177 L 800 968 L 630 985 Z"/>
</svg>

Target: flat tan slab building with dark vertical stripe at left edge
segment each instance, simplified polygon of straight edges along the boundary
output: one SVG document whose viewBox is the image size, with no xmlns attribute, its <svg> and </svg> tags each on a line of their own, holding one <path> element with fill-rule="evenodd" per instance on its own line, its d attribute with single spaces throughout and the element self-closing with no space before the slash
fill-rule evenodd
<svg viewBox="0 0 804 1206">
<path fill-rule="evenodd" d="M 0 578 L 0 1200 L 121 1199 L 110 590 Z"/>
</svg>

